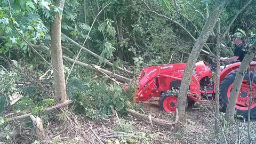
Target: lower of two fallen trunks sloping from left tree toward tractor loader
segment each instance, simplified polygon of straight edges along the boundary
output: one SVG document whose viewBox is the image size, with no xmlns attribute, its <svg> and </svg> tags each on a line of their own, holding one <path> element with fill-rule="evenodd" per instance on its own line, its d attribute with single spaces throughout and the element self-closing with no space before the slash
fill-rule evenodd
<svg viewBox="0 0 256 144">
<path fill-rule="evenodd" d="M 63 58 L 65 58 L 66 60 L 68 60 L 68 61 L 70 61 L 70 62 L 74 62 L 75 60 L 74 59 L 70 59 L 70 58 L 68 58 L 68 57 L 66 57 L 66 56 L 64 56 L 63 55 Z M 113 77 L 115 77 L 118 81 L 120 81 L 120 82 L 124 82 L 124 83 L 129 83 L 129 82 L 131 82 L 132 81 L 132 79 L 130 79 L 130 78 L 127 78 L 127 77 L 124 77 L 124 76 L 121 76 L 121 75 L 117 75 L 117 74 L 113 74 L 113 73 L 111 73 L 111 71 L 108 71 L 108 70 L 106 70 L 106 69 L 102 69 L 102 68 L 100 68 L 99 66 L 97 66 L 97 65 L 89 65 L 89 64 L 87 64 L 87 63 L 83 63 L 83 62 L 81 62 L 81 61 L 76 61 L 76 63 L 78 64 L 78 65 L 80 65 L 80 66 L 83 66 L 83 67 L 87 67 L 87 68 L 95 68 L 96 70 L 98 70 L 98 71 L 102 71 L 103 73 L 105 73 L 105 74 L 107 74 L 108 76 L 113 76 Z"/>
</svg>

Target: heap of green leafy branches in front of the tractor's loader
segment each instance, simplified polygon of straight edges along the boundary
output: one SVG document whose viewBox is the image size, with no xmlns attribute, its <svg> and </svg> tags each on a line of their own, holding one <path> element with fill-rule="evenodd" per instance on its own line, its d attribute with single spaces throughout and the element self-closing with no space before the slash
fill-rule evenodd
<svg viewBox="0 0 256 144">
<path fill-rule="evenodd" d="M 122 114 L 131 106 L 132 91 L 125 92 L 115 83 L 108 84 L 106 79 L 70 77 L 68 92 L 68 97 L 76 101 L 74 109 L 92 119 L 111 115 L 111 107 Z"/>
</svg>

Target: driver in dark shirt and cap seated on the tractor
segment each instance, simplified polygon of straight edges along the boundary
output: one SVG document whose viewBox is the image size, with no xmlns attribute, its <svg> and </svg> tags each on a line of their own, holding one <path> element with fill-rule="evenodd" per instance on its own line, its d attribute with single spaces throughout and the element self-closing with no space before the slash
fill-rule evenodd
<svg viewBox="0 0 256 144">
<path fill-rule="evenodd" d="M 241 33 L 235 33 L 234 35 L 231 35 L 231 43 L 236 45 L 235 51 L 234 51 L 234 56 L 231 58 L 221 57 L 220 58 L 221 61 L 226 61 L 226 62 L 234 61 L 234 60 L 239 60 L 240 62 L 243 61 L 243 59 L 245 57 L 246 45 L 243 43 L 242 38 L 243 38 L 243 34 L 241 34 Z M 220 66 L 220 71 L 222 71 L 223 69 L 224 69 L 224 66 Z"/>
</svg>

